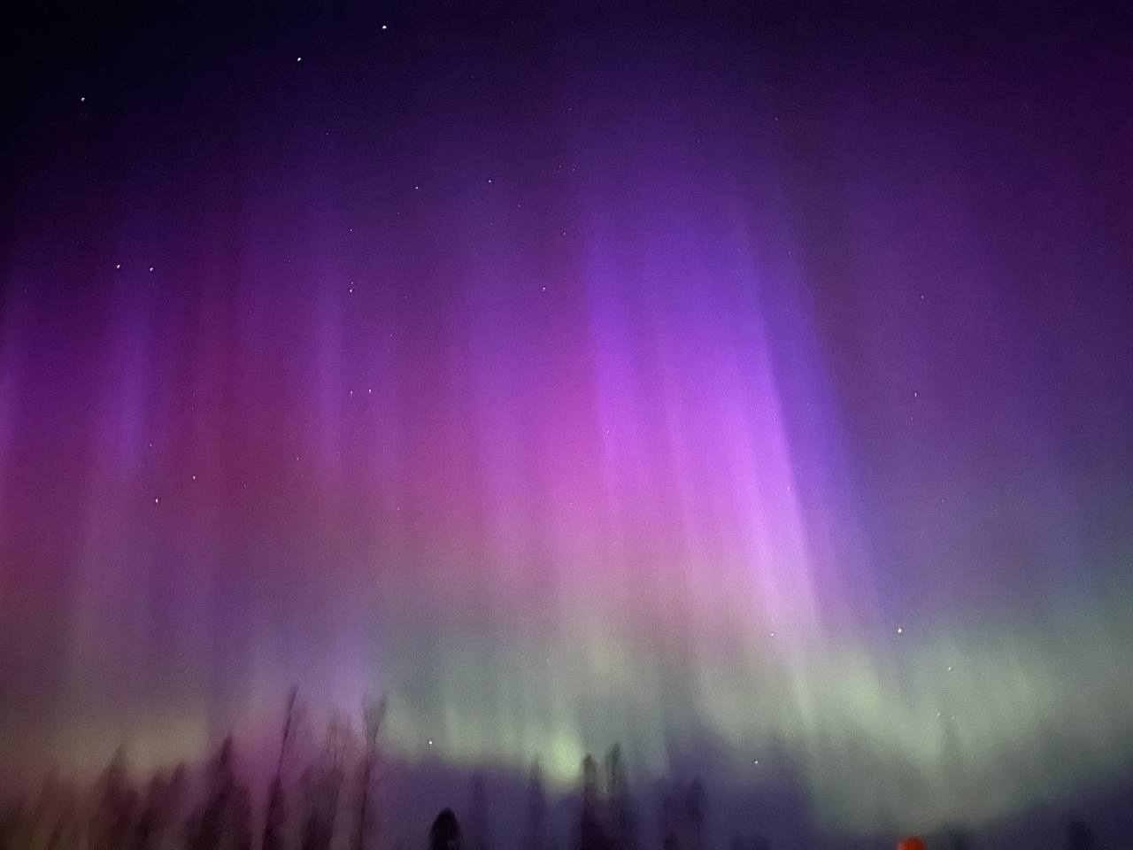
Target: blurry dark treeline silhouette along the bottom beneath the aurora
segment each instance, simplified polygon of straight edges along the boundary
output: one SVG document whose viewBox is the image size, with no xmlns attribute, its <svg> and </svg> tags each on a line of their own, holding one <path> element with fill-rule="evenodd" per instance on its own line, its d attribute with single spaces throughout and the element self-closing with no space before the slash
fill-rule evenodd
<svg viewBox="0 0 1133 850">
<path fill-rule="evenodd" d="M 366 704 L 363 737 L 341 715 L 332 717 L 321 747 L 301 770 L 291 766 L 301 708 L 298 691 L 288 696 L 274 772 L 262 813 L 254 811 L 249 784 L 237 770 L 236 749 L 225 739 L 193 780 L 178 765 L 135 787 L 121 750 L 85 791 L 48 776 L 29 800 L 0 806 L 0 850 L 406 850 L 383 834 L 378 781 L 385 700 Z M 289 775 L 297 773 L 297 780 Z M 708 850 L 707 794 L 699 779 L 666 783 L 657 800 L 657 845 L 646 847 L 621 748 L 614 745 L 599 765 L 581 764 L 571 850 Z M 472 776 L 465 825 L 443 809 L 421 843 L 428 850 L 496 850 L 491 834 L 486 783 Z M 561 850 L 538 762 L 527 780 L 520 833 L 500 850 Z M 902 844 L 904 845 L 904 844 Z M 733 833 L 729 850 L 770 850 L 758 833 Z M 970 835 L 952 832 L 930 847 L 973 848 Z M 1081 819 L 1065 830 L 1066 850 L 1097 850 Z M 410 849 L 411 850 L 411 849 Z"/>
</svg>

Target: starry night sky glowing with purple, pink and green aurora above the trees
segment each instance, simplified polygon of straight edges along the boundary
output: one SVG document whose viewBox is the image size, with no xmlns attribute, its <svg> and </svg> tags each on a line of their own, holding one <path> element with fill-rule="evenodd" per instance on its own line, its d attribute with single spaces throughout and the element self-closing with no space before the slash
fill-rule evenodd
<svg viewBox="0 0 1133 850">
<path fill-rule="evenodd" d="M 1105 788 L 1133 34 L 1077 6 L 10 19 L 0 765 L 298 682 L 846 831 Z"/>
</svg>

